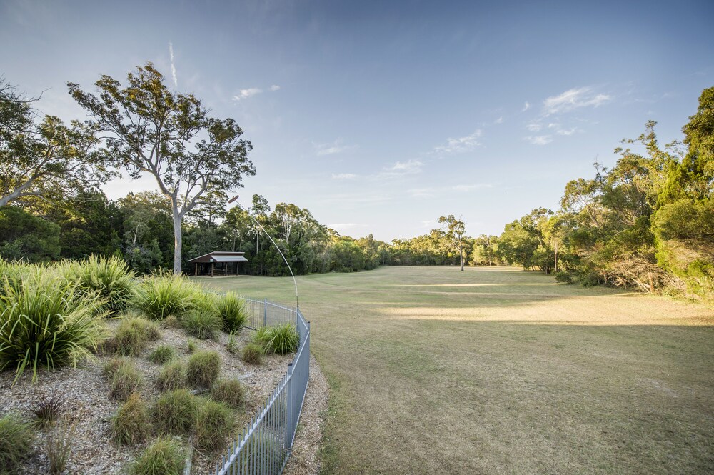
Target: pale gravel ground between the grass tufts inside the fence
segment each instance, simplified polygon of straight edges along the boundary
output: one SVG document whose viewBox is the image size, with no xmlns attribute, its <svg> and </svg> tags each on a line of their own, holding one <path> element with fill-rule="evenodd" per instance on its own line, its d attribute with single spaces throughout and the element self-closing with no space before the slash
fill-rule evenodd
<svg viewBox="0 0 714 475">
<path fill-rule="evenodd" d="M 110 330 L 119 324 L 108 321 Z M 253 332 L 244 330 L 237 337 L 238 349 L 250 341 Z M 151 342 L 141 356 L 133 358 L 144 374 L 141 396 L 146 401 L 154 401 L 159 392 L 155 389 L 159 365 L 153 364 L 146 356 L 159 344 L 169 344 L 178 350 L 181 359 L 188 359 L 186 342 L 188 337 L 179 329 L 161 329 L 161 339 Z M 250 420 L 263 401 L 271 394 L 294 355 L 271 355 L 263 358 L 263 364 L 253 366 L 244 364 L 238 354 L 226 351 L 228 336 L 221 334 L 218 341 L 194 340 L 198 349 L 216 350 L 221 355 L 221 377 L 238 378 L 248 392 L 248 401 L 243 411 L 238 411 L 238 429 Z M 13 385 L 14 373 L 0 373 L 0 415 L 16 411 L 34 417 L 32 410 L 42 397 L 60 396 L 64 399 L 64 420 L 75 424 L 74 441 L 66 473 L 69 474 L 123 474 L 144 449 L 146 444 L 126 447 L 115 446 L 109 436 L 109 419 L 119 407 L 119 402 L 109 397 L 109 384 L 102 374 L 106 361 L 111 356 L 97 356 L 94 361 L 83 361 L 76 368 L 62 368 L 54 371 L 39 370 L 36 383 L 31 381 L 31 370 L 25 371 Z M 311 376 L 312 381 L 312 376 Z M 301 424 L 303 421 L 301 420 Z M 22 469 L 28 475 L 46 474 L 49 460 L 45 452 L 47 429 L 38 429 L 34 456 Z M 226 447 L 230 439 L 226 439 Z M 191 468 L 192 474 L 212 474 L 216 461 L 224 451 L 209 454 L 195 454 Z M 307 472 L 306 472 L 307 473 Z"/>
</svg>

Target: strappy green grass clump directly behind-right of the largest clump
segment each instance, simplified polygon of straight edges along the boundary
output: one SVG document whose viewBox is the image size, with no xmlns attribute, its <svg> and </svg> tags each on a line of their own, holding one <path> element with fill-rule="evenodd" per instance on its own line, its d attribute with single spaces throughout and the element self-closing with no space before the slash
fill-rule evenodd
<svg viewBox="0 0 714 475">
<path fill-rule="evenodd" d="M 104 299 L 104 308 L 111 314 L 126 310 L 136 298 L 134 272 L 124 259 L 116 256 L 93 255 L 81 262 L 68 263 L 65 276 L 76 282 L 84 294 L 99 294 Z"/>
</svg>

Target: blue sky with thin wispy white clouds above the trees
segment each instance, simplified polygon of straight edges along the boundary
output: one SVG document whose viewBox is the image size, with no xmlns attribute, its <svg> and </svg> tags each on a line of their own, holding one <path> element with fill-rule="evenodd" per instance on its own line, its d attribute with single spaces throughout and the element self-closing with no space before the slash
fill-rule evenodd
<svg viewBox="0 0 714 475">
<path fill-rule="evenodd" d="M 67 81 L 152 61 L 252 141 L 244 206 L 292 202 L 353 237 L 444 214 L 500 234 L 648 119 L 682 139 L 714 86 L 711 1 L 172 3 L 4 0 L 0 74 L 71 119 Z"/>
</svg>

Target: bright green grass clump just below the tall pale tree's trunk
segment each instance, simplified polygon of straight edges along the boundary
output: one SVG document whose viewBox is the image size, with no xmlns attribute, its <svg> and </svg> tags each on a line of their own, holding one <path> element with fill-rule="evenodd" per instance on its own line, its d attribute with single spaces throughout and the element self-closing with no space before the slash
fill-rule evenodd
<svg viewBox="0 0 714 475">
<path fill-rule="evenodd" d="M 179 319 L 196 307 L 202 294 L 198 286 L 174 274 L 147 277 L 139 287 L 137 305 L 150 319 L 163 320 L 169 315 Z"/>
</svg>

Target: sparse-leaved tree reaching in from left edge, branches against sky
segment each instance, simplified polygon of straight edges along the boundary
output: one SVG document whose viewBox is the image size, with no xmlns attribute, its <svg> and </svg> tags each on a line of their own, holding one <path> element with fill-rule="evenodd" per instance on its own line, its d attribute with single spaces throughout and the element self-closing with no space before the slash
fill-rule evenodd
<svg viewBox="0 0 714 475">
<path fill-rule="evenodd" d="M 31 106 L 36 100 L 0 78 L 0 206 L 96 190 L 112 176 L 109 157 L 97 149 L 96 126 L 40 119 Z"/>
</svg>

